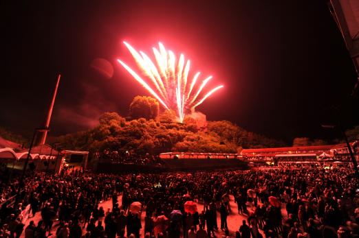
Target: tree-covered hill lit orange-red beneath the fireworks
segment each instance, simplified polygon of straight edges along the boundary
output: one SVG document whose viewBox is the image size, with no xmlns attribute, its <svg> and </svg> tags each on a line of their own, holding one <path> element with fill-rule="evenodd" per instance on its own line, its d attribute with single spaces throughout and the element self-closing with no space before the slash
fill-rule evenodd
<svg viewBox="0 0 359 238">
<path fill-rule="evenodd" d="M 106 112 L 91 130 L 59 136 L 57 141 L 72 150 L 135 151 L 140 154 L 162 152 L 236 153 L 241 148 L 277 147 L 284 143 L 247 132 L 230 121 L 208 121 L 199 130 L 195 121 L 173 123 L 154 119 L 127 120 L 116 112 Z"/>
</svg>

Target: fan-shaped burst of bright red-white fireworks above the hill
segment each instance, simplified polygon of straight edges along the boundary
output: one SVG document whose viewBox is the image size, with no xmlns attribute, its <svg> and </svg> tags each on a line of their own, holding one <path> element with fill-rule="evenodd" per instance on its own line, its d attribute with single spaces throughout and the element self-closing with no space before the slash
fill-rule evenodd
<svg viewBox="0 0 359 238">
<path fill-rule="evenodd" d="M 121 60 L 118 60 L 118 62 L 135 80 L 144 86 L 164 108 L 167 110 L 175 110 L 181 122 L 183 122 L 184 115 L 188 110 L 195 110 L 195 107 L 202 104 L 210 95 L 215 93 L 215 91 L 219 88 L 223 88 L 223 85 L 217 86 L 202 97 L 199 97 L 202 95 L 202 91 L 212 76 L 204 79 L 202 84 L 197 84 L 200 74 L 197 72 L 193 79 L 190 80 L 191 84 L 188 85 L 188 73 L 190 71 L 191 62 L 190 60 L 185 61 L 183 54 L 179 56 L 176 65 L 175 54 L 170 50 L 166 51 L 162 43 L 158 43 L 159 49 L 153 47 L 153 54 L 155 56 L 155 63 L 153 63 L 146 53 L 136 51 L 129 43 L 124 42 L 124 45 L 129 49 L 144 75 L 151 80 L 151 84 L 154 88 L 142 80 L 140 75 L 135 73 L 127 64 Z"/>
</svg>

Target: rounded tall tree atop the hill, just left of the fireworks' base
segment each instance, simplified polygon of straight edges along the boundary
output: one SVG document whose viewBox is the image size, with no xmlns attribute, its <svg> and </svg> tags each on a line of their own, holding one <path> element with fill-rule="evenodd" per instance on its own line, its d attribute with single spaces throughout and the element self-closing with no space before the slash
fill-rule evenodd
<svg viewBox="0 0 359 238">
<path fill-rule="evenodd" d="M 133 119 L 155 119 L 160 112 L 160 104 L 153 97 L 136 96 L 130 104 L 130 115 Z"/>
</svg>

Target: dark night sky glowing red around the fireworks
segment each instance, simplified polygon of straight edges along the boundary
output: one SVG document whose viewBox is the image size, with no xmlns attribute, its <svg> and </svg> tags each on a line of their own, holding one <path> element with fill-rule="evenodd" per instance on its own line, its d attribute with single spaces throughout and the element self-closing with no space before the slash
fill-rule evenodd
<svg viewBox="0 0 359 238">
<path fill-rule="evenodd" d="M 1 11 L 0 126 L 31 134 L 63 78 L 52 135 L 84 130 L 106 111 L 127 115 L 146 91 L 116 62 L 122 40 L 151 54 L 160 40 L 214 76 L 220 92 L 197 110 L 292 141 L 336 136 L 320 128 L 336 104 L 349 128 L 356 73 L 326 1 L 7 1 Z M 90 67 L 104 58 L 113 77 Z"/>
</svg>

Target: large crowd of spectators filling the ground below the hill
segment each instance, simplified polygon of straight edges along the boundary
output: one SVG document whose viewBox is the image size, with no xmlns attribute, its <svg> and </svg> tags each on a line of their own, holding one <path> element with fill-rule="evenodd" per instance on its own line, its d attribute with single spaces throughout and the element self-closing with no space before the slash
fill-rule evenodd
<svg viewBox="0 0 359 238">
<path fill-rule="evenodd" d="M 2 181 L 0 189 L 7 197 L 18 195 L 14 206 L 1 206 L 1 238 L 359 236 L 358 180 L 347 167 L 35 173 L 23 181 L 16 176 Z M 233 198 L 237 209 L 231 209 Z M 111 209 L 101 206 L 106 200 L 111 200 Z M 189 211 L 188 201 L 204 209 Z M 31 221 L 27 226 L 26 209 Z M 245 218 L 228 221 L 239 217 L 229 216 L 234 213 Z M 32 217 L 37 214 L 41 220 L 35 224 Z M 229 222 L 237 222 L 238 228 L 228 230 Z"/>
</svg>

